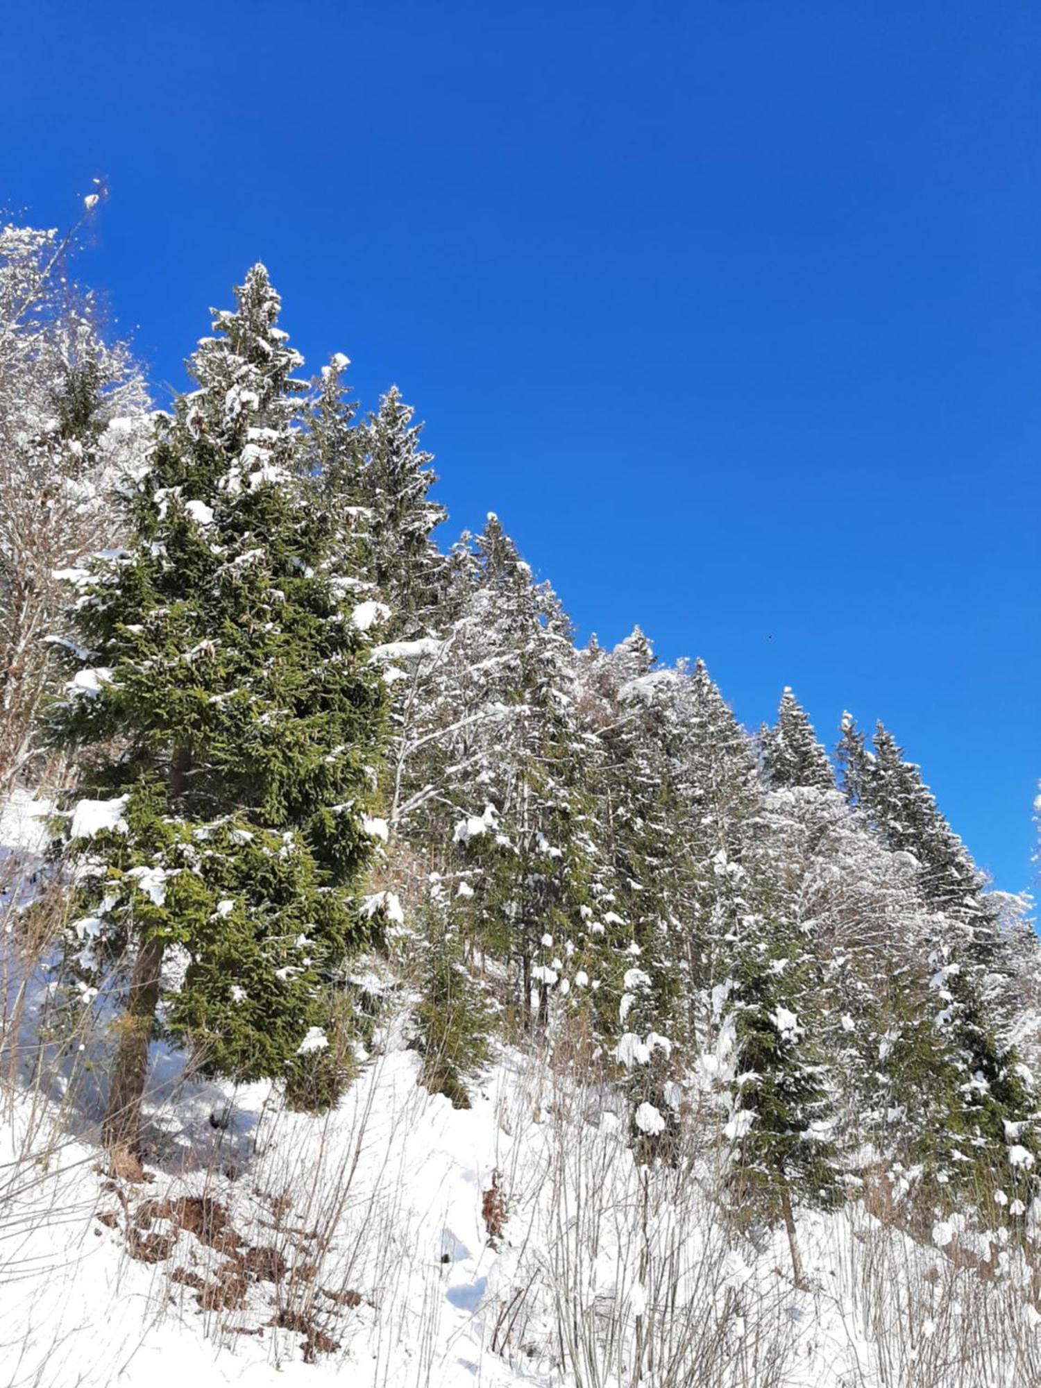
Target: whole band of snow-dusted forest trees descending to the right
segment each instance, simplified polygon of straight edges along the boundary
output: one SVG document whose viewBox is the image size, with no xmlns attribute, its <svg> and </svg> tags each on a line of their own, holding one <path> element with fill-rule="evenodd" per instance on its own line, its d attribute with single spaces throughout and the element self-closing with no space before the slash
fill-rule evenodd
<svg viewBox="0 0 1041 1388">
<path fill-rule="evenodd" d="M 577 648 L 496 515 L 439 543 L 412 409 L 307 376 L 262 265 L 154 408 L 74 242 L 0 232 L 0 793 L 57 799 L 117 1169 L 155 1037 L 321 1109 L 397 990 L 457 1105 L 545 1047 L 736 1208 L 881 1173 L 1031 1238 L 1037 940 L 892 733 L 831 758 L 791 690 L 750 733 L 638 629 Z"/>
</svg>

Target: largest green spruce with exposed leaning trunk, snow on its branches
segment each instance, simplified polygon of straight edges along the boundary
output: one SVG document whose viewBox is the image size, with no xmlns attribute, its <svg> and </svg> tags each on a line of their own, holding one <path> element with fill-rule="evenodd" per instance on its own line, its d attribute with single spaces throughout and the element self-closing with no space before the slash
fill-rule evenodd
<svg viewBox="0 0 1041 1388">
<path fill-rule="evenodd" d="M 157 1017 L 210 1072 L 285 1076 L 321 1048 L 323 987 L 366 929 L 382 609 L 344 604 L 335 520 L 304 489 L 300 357 L 264 266 L 236 296 L 158 421 L 126 547 L 81 573 L 92 665 L 54 716 L 86 790 L 75 962 L 129 969 L 104 1124 L 125 1170 Z"/>
</svg>

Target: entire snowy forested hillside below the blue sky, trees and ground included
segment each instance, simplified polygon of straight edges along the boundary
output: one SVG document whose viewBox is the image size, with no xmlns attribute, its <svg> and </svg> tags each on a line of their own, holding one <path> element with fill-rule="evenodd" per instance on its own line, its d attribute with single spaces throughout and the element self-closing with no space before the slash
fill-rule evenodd
<svg viewBox="0 0 1041 1388">
<path fill-rule="evenodd" d="M 11 1388 L 1038 1381 L 1041 951 L 892 731 L 443 548 L 264 265 L 155 409 L 4 237 Z"/>
</svg>

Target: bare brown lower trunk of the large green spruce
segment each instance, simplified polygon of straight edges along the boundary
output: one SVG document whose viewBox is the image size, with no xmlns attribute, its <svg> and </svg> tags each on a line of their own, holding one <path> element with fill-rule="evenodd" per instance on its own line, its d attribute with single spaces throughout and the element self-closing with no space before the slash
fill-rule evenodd
<svg viewBox="0 0 1041 1388">
<path fill-rule="evenodd" d="M 117 1022 L 118 1044 L 103 1127 L 112 1173 L 130 1181 L 144 1180 L 140 1163 L 140 1117 L 149 1078 L 149 1041 L 155 1024 L 162 970 L 161 940 L 146 940 L 133 963 L 126 1009 Z"/>
</svg>

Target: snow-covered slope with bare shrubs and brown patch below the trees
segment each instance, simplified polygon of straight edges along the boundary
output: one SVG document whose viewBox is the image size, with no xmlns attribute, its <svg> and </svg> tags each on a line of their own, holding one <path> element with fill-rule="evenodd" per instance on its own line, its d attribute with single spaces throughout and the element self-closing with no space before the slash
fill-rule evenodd
<svg viewBox="0 0 1041 1388">
<path fill-rule="evenodd" d="M 801 1220 L 813 1289 L 797 1292 L 781 1241 L 727 1233 L 688 1173 L 633 1166 L 598 1097 L 569 1099 L 516 1058 L 466 1112 L 419 1088 L 393 1045 L 326 1119 L 251 1087 L 228 1128 L 194 1128 L 210 1152 L 192 1170 L 185 1134 L 217 1098 L 189 1084 L 154 1110 L 175 1134 L 154 1180 L 115 1187 L 96 1149 L 56 1135 L 50 1105 L 8 1094 L 0 1382 L 620 1388 L 638 1327 L 684 1374 L 644 1382 L 1030 1381 L 1022 1299 L 1001 1303 L 1009 1342 L 987 1351 L 988 1377 L 911 1377 L 931 1346 L 947 1357 L 952 1334 L 979 1334 L 973 1273 L 854 1208 Z"/>
</svg>

